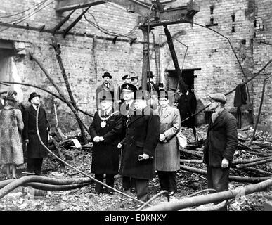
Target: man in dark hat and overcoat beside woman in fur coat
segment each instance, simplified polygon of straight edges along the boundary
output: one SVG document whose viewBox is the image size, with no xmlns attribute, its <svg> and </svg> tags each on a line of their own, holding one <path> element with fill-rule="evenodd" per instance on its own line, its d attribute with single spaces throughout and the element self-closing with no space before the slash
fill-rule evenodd
<svg viewBox="0 0 272 225">
<path fill-rule="evenodd" d="M 22 138 L 27 143 L 27 172 L 41 174 L 41 166 L 43 159 L 47 156 L 48 152 L 44 146 L 41 145 L 36 129 L 36 115 L 37 108 L 40 103 L 40 95 L 36 92 L 30 94 L 30 107 L 22 112 L 22 119 L 25 127 L 22 131 Z M 41 141 L 48 146 L 48 131 L 50 129 L 48 120 L 46 119 L 46 112 L 44 108 L 39 108 L 38 127 Z"/>
</svg>

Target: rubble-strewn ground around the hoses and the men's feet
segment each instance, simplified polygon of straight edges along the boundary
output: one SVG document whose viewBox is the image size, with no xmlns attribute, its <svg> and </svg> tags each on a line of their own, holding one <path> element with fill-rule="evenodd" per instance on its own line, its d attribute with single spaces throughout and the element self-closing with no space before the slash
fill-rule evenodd
<svg viewBox="0 0 272 225">
<path fill-rule="evenodd" d="M 91 174 L 91 150 L 70 148 L 67 149 L 67 152 L 72 156 L 72 160 L 67 160 L 70 165 L 77 167 L 77 169 L 82 170 L 86 174 Z M 236 157 L 237 155 L 242 157 L 242 154 L 243 153 L 236 154 Z M 186 159 L 188 155 L 181 154 L 181 158 Z M 190 157 L 190 159 L 197 158 Z M 18 167 L 18 178 L 26 176 L 22 173 L 26 171 L 26 167 L 26 163 Z M 197 167 L 205 169 L 205 165 L 198 165 Z M 271 169 L 271 165 L 266 165 L 266 167 L 270 167 L 268 169 Z M 51 155 L 45 158 L 41 175 L 52 178 L 84 177 L 70 167 L 63 167 L 63 165 Z M 2 169 L 0 181 L 4 180 L 5 176 L 4 169 Z M 170 201 L 186 198 L 189 195 L 193 195 L 207 188 L 206 177 L 191 172 L 179 171 L 176 176 L 176 181 L 178 184 L 178 192 L 174 196 L 171 196 Z M 248 184 L 230 182 L 229 189 L 246 185 Z M 70 191 L 47 191 L 44 192 L 45 196 L 34 196 L 32 194 L 33 188 L 26 189 L 18 187 L 0 199 L 0 211 L 134 211 L 139 206 L 135 200 L 116 192 L 113 195 L 105 193 L 96 195 L 94 186 L 95 184 L 90 184 L 89 186 Z M 118 175 L 115 179 L 115 188 L 119 191 L 122 189 L 122 178 Z M 149 188 L 151 197 L 160 192 L 160 184 L 157 176 L 150 181 Z M 135 193 L 126 193 L 136 198 Z M 206 193 L 200 193 L 198 195 L 204 194 Z M 272 188 L 241 196 L 231 201 L 229 210 L 262 211 L 264 210 L 264 203 L 266 201 L 265 195 L 272 195 Z M 160 195 L 158 198 L 155 198 L 150 205 L 157 205 L 162 202 L 167 202 L 165 195 Z M 211 204 L 205 206 L 209 207 Z"/>
</svg>

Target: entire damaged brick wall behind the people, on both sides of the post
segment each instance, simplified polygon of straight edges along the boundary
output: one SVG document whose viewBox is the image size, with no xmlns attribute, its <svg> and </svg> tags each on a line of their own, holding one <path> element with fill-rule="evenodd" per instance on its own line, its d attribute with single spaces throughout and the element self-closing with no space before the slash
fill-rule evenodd
<svg viewBox="0 0 272 225">
<path fill-rule="evenodd" d="M 124 8 L 111 1 L 93 1 L 99 4 L 91 6 L 75 26 L 69 29 L 88 7 L 77 8 L 70 15 L 72 10 L 62 12 L 58 8 L 61 2 L 65 0 L 1 1 L 0 81 L 34 84 L 56 93 L 41 68 L 28 57 L 28 53 L 31 53 L 66 93 L 61 70 L 51 46 L 52 40 L 57 41 L 77 106 L 93 114 L 96 110 L 95 91 L 103 82 L 103 72 L 110 72 L 112 82 L 116 85 L 122 83 L 121 77 L 126 74 L 138 75 L 141 79 L 144 40 L 143 32 L 138 29 L 138 14 L 133 13 L 133 8 Z M 151 1 L 132 2 L 150 4 Z M 161 2 L 165 2 L 165 8 L 188 4 L 188 0 Z M 207 94 L 214 91 L 227 93 L 235 89 L 271 60 L 272 2 L 195 0 L 193 4 L 200 9 L 193 16 L 193 23 L 179 23 L 168 27 L 183 79 L 194 89 L 197 108 L 201 109 L 208 103 Z M 57 29 L 56 26 L 67 15 L 70 18 Z M 174 63 L 162 26 L 150 31 L 149 41 L 150 70 L 155 75 L 155 81 L 163 82 L 167 89 L 176 88 Z M 270 75 L 271 65 L 268 65 L 266 70 L 248 83 L 250 99 L 247 99 L 247 105 L 242 106 L 244 124 L 248 124 L 247 112 L 250 106 L 254 117 L 257 116 L 263 80 Z M 56 103 L 60 127 L 65 131 L 77 129 L 74 115 L 57 98 L 29 86 L 12 86 L 18 91 L 19 100 L 25 104 L 32 91 L 39 92 L 50 115 L 51 124 L 55 123 L 53 103 Z M 268 79 L 260 124 L 270 130 L 271 96 L 271 79 Z M 234 92 L 227 98 L 228 110 L 235 112 Z M 90 118 L 84 115 L 82 117 L 89 125 Z M 205 113 L 197 116 L 197 123 L 205 123 Z"/>
</svg>

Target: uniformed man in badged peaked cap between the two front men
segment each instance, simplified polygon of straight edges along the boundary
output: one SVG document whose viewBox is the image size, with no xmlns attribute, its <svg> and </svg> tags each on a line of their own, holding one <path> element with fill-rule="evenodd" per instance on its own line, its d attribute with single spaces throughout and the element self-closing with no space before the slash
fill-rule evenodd
<svg viewBox="0 0 272 225">
<path fill-rule="evenodd" d="M 120 113 L 122 115 L 122 134 L 121 140 L 126 136 L 127 124 L 131 119 L 131 116 L 134 115 L 134 93 L 137 90 L 136 86 L 133 84 L 125 83 L 121 86 L 122 96 L 124 102 L 120 105 Z M 124 149 L 122 150 L 124 154 Z M 123 160 L 123 158 L 121 159 Z M 134 179 L 131 177 L 123 176 L 122 177 L 122 191 L 130 190 L 132 193 L 136 191 Z"/>
</svg>

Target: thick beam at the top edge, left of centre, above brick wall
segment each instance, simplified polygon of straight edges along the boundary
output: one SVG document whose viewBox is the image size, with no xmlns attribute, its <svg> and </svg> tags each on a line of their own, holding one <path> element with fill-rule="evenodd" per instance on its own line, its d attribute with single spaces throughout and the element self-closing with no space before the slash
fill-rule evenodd
<svg viewBox="0 0 272 225">
<path fill-rule="evenodd" d="M 89 6 L 105 4 L 105 1 L 103 0 L 58 0 L 56 4 L 56 12 L 63 13 L 65 11 L 71 11 L 75 8 L 86 8 Z"/>
</svg>

